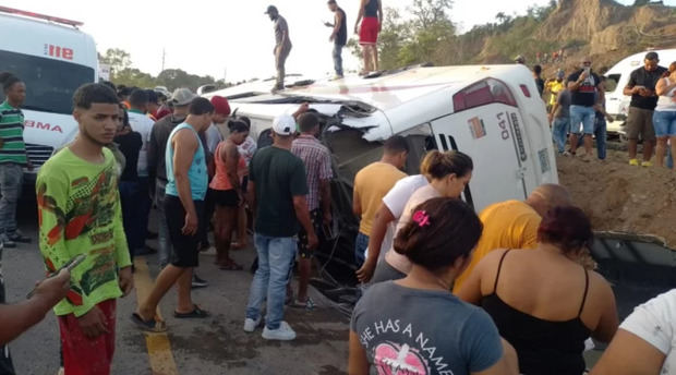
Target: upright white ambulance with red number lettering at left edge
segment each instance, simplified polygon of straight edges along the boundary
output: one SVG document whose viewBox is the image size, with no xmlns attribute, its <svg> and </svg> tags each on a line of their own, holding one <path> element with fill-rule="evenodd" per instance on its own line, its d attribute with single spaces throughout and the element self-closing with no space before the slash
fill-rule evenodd
<svg viewBox="0 0 676 375">
<path fill-rule="evenodd" d="M 81 25 L 0 7 L 0 72 L 11 72 L 26 84 L 24 140 L 36 167 L 73 140 L 77 133 L 73 93 L 97 81 L 96 45 L 77 29 Z M 2 93 L 0 100 L 4 100 Z M 36 171 L 26 172 L 28 181 L 35 179 Z"/>
</svg>

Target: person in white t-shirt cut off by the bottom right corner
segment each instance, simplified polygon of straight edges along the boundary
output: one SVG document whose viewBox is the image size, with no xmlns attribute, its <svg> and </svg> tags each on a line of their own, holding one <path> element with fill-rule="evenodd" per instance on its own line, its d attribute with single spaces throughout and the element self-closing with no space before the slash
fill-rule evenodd
<svg viewBox="0 0 676 375">
<path fill-rule="evenodd" d="M 591 375 L 676 375 L 676 289 L 636 307 Z"/>
</svg>

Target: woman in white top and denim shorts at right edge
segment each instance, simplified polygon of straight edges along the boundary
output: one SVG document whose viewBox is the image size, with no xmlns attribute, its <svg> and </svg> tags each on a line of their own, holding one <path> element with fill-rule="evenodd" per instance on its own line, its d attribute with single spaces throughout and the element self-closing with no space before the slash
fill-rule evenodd
<svg viewBox="0 0 676 375">
<path fill-rule="evenodd" d="M 655 93 L 660 96 L 657 107 L 652 117 L 657 136 L 656 164 L 664 166 L 664 155 L 666 154 L 666 143 L 669 141 L 672 155 L 676 155 L 676 62 L 669 65 L 669 74 L 660 78 L 655 85 Z"/>
</svg>

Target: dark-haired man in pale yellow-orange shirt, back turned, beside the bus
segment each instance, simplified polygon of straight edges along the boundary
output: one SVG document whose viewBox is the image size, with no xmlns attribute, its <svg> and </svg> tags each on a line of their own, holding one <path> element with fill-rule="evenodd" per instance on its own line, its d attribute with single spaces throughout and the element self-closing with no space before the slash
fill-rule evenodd
<svg viewBox="0 0 676 375">
<path fill-rule="evenodd" d="M 381 206 L 381 201 L 397 181 L 407 177 L 401 171 L 409 154 L 409 145 L 406 143 L 406 138 L 395 135 L 385 142 L 384 148 L 385 152 L 381 161 L 362 168 L 354 177 L 352 211 L 358 218 L 361 218 L 359 234 L 354 244 L 354 258 L 358 267 L 364 263 L 371 227 Z"/>
</svg>

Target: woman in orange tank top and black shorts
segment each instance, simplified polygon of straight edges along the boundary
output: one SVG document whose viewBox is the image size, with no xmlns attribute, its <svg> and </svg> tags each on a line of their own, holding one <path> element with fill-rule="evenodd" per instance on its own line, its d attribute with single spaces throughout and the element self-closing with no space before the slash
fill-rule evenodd
<svg viewBox="0 0 676 375">
<path fill-rule="evenodd" d="M 230 136 L 216 147 L 214 162 L 216 174 L 209 184 L 216 204 L 214 213 L 214 234 L 216 239 L 216 264 L 220 269 L 240 270 L 242 266 L 230 258 L 230 240 L 234 228 L 237 211 L 244 204 L 240 172 L 246 168 L 244 158 L 237 146 L 249 136 L 249 126 L 242 121 L 231 121 Z"/>
</svg>

